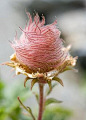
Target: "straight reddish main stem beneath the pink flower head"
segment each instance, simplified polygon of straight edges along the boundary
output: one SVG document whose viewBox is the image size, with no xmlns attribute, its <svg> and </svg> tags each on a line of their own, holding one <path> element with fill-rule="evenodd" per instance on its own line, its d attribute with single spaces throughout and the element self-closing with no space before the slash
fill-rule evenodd
<svg viewBox="0 0 86 120">
<path fill-rule="evenodd" d="M 39 113 L 38 113 L 38 120 L 42 120 L 42 115 L 43 115 L 43 88 L 44 88 L 44 85 L 39 83 Z"/>
</svg>

